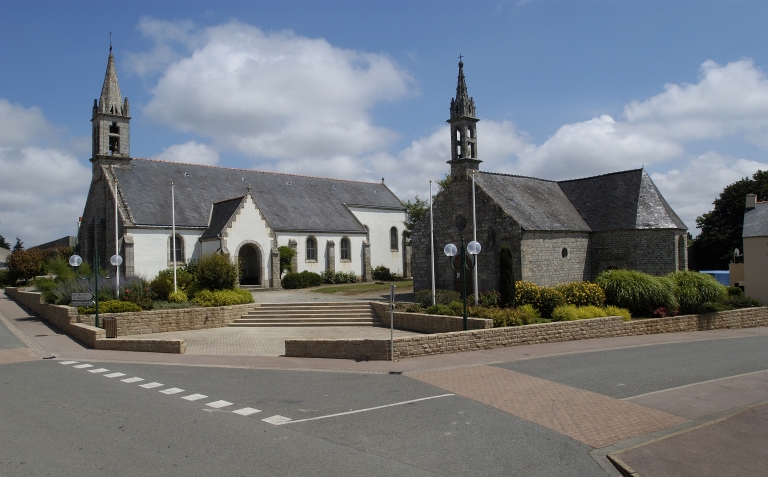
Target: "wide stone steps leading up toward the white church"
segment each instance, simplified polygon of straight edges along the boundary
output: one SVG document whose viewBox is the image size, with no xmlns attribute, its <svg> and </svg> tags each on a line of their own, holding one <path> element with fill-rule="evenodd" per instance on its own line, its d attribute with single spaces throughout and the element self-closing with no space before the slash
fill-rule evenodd
<svg viewBox="0 0 768 477">
<path fill-rule="evenodd" d="M 381 326 L 368 302 L 262 303 L 228 326 Z"/>
</svg>

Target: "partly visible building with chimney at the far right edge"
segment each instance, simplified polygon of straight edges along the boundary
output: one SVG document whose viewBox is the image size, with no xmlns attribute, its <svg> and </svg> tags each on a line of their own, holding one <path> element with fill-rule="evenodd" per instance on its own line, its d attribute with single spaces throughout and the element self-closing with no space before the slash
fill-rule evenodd
<svg viewBox="0 0 768 477">
<path fill-rule="evenodd" d="M 768 304 L 768 202 L 758 202 L 755 194 L 747 194 L 744 209 L 744 263 L 731 264 L 739 277 L 744 294 Z M 741 265 L 741 267 L 739 267 Z M 733 272 L 732 272 L 733 274 Z"/>
</svg>

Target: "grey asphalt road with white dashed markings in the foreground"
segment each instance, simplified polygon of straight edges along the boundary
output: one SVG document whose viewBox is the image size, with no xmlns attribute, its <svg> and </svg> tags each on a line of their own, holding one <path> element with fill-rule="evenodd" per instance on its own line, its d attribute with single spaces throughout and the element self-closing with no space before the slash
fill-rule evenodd
<svg viewBox="0 0 768 477">
<path fill-rule="evenodd" d="M 681 406 L 698 409 L 692 420 L 766 399 L 767 334 L 701 336 L 708 339 L 518 356 L 494 366 L 659 409 L 668 400 L 679 416 Z M 610 342 L 591 341 L 595 348 Z M 0 351 L 23 346 L 0 323 Z M 737 395 L 738 403 L 723 403 Z M 765 411 L 749 412 L 740 419 L 766 427 Z M 642 465 L 643 477 L 762 470 L 754 449 L 768 436 L 744 429 L 718 434 L 712 425 L 621 455 Z M 718 450 L 736 455 L 725 444 L 739 442 L 749 443 L 739 457 L 751 467 L 703 464 Z M 699 454 L 683 452 L 691 449 Z M 408 375 L 66 359 L 0 364 L 2 476 L 609 475 L 590 451 Z M 697 455 L 699 467 L 686 467 Z"/>
</svg>

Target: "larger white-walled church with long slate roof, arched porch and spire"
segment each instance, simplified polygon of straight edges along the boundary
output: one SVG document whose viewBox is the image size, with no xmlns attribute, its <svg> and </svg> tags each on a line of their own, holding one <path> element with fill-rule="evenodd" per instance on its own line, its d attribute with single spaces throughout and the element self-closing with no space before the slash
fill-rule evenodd
<svg viewBox="0 0 768 477">
<path fill-rule="evenodd" d="M 372 267 L 407 271 L 405 208 L 383 179 L 136 159 L 130 120 L 110 51 L 91 119 L 92 179 L 78 231 L 84 260 L 92 262 L 98 251 L 108 263 L 119 250 L 122 275 L 152 278 L 174 262 L 221 252 L 241 263 L 242 284 L 280 287 L 278 247 L 289 246 L 299 272 L 351 271 L 371 280 Z"/>
</svg>

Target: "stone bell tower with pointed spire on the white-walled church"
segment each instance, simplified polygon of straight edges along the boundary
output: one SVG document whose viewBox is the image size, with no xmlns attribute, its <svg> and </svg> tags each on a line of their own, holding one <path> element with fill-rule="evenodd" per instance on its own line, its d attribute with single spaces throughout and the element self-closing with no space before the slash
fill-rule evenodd
<svg viewBox="0 0 768 477">
<path fill-rule="evenodd" d="M 112 42 L 109 45 L 107 73 L 101 96 L 93 100 L 93 157 L 91 161 L 102 163 L 123 163 L 130 160 L 131 129 L 128 98 L 120 94 L 115 71 L 115 57 L 112 56 Z"/>
</svg>

